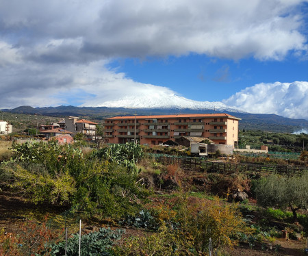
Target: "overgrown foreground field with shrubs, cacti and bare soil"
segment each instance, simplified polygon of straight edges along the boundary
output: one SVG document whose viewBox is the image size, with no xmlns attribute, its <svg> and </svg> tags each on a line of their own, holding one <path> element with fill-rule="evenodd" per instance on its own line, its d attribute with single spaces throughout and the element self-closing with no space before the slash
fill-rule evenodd
<svg viewBox="0 0 308 256">
<path fill-rule="evenodd" d="M 138 144 L 5 143 L 0 255 L 77 255 L 79 220 L 81 255 L 303 254 L 307 172 L 183 170 Z"/>
</svg>

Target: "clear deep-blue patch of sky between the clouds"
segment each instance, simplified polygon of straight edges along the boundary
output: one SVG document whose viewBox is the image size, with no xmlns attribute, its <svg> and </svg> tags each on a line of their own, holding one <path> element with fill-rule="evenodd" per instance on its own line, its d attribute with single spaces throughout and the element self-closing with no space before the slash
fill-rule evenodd
<svg viewBox="0 0 308 256">
<path fill-rule="evenodd" d="M 308 61 L 292 53 L 279 61 L 253 57 L 226 60 L 190 54 L 163 59 L 120 59 L 109 66 L 133 80 L 166 86 L 196 101 L 222 101 L 259 83 L 308 81 Z"/>
</svg>

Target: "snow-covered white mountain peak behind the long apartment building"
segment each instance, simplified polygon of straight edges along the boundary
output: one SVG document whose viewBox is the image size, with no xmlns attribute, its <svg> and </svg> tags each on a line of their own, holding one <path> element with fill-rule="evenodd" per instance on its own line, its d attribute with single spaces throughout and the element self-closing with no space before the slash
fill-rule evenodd
<svg viewBox="0 0 308 256">
<path fill-rule="evenodd" d="M 141 96 L 125 96 L 113 101 L 105 101 L 96 107 L 126 107 L 126 108 L 160 108 L 160 109 L 190 109 L 190 110 L 218 110 L 243 112 L 235 107 L 229 107 L 220 101 L 193 101 L 175 94 L 156 94 Z"/>
</svg>

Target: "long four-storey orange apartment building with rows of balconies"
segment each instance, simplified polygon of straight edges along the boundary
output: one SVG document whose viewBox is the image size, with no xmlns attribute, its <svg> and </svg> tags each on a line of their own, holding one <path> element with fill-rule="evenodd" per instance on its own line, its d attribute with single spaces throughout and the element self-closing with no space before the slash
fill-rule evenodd
<svg viewBox="0 0 308 256">
<path fill-rule="evenodd" d="M 215 144 L 238 143 L 238 121 L 228 114 L 179 114 L 165 116 L 115 116 L 105 119 L 105 138 L 110 143 L 161 144 L 181 136 L 209 138 Z"/>
</svg>

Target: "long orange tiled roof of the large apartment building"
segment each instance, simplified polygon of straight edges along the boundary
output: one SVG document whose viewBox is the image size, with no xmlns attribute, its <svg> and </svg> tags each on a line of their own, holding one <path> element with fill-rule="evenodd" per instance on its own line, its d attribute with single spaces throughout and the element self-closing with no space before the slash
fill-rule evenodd
<svg viewBox="0 0 308 256">
<path fill-rule="evenodd" d="M 203 118 L 203 117 L 227 117 L 227 118 L 234 118 L 240 120 L 235 116 L 231 116 L 225 113 L 217 113 L 217 114 L 178 114 L 178 115 L 162 115 L 162 116 L 137 116 L 137 119 L 149 119 L 149 118 Z M 134 119 L 135 116 L 114 116 L 112 118 L 106 118 L 106 120 L 118 120 L 118 119 Z"/>
</svg>

